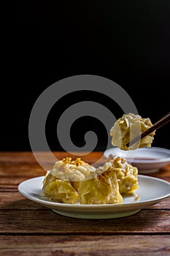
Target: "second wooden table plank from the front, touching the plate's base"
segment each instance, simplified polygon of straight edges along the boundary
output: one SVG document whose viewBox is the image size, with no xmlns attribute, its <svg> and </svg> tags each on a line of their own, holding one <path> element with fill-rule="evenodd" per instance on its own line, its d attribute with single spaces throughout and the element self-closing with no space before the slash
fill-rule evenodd
<svg viewBox="0 0 170 256">
<path fill-rule="evenodd" d="M 0 233 L 170 233 L 170 211 L 142 210 L 120 219 L 74 219 L 47 211 L 0 211 Z"/>
</svg>

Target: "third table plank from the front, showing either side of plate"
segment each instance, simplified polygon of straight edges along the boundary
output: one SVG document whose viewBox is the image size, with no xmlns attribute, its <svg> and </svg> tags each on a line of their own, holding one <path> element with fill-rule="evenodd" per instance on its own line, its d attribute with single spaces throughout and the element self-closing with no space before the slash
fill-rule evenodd
<svg viewBox="0 0 170 256">
<path fill-rule="evenodd" d="M 45 208 L 38 203 L 26 199 L 19 192 L 7 192 L 0 194 L 0 209 L 18 209 L 18 210 L 31 210 Z M 160 203 L 151 206 L 154 209 L 170 209 L 170 197 L 162 200 Z M 148 208 L 148 209 L 150 209 Z"/>
</svg>

